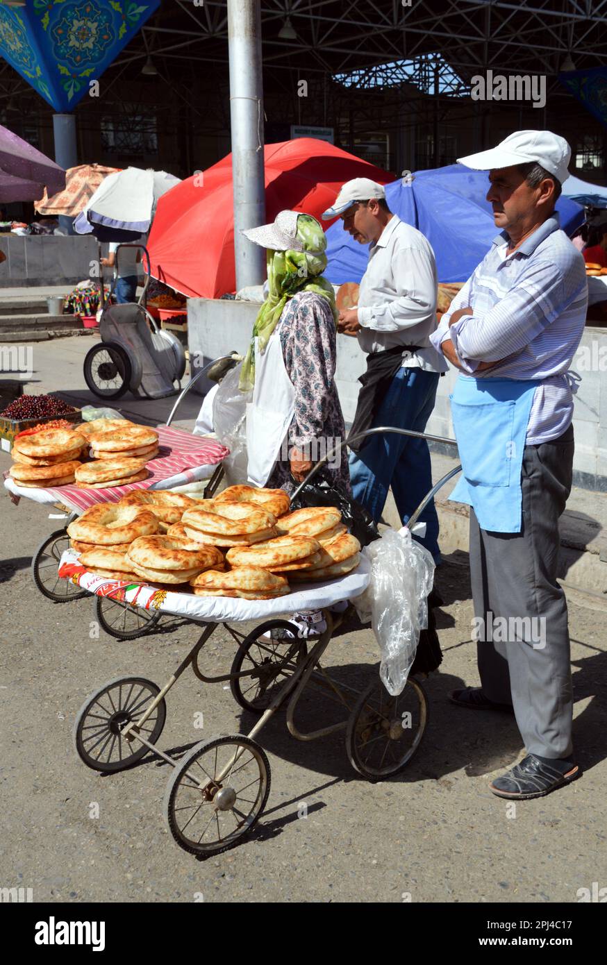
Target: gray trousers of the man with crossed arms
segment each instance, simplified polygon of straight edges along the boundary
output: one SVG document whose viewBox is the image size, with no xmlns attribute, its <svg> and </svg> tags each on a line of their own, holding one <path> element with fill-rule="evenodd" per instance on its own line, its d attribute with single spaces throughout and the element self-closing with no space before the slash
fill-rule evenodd
<svg viewBox="0 0 607 965">
<path fill-rule="evenodd" d="M 479 673 L 490 701 L 511 703 L 529 754 L 572 753 L 565 593 L 557 583 L 559 516 L 571 489 L 573 427 L 526 446 L 521 533 L 491 533 L 470 510 Z"/>
</svg>

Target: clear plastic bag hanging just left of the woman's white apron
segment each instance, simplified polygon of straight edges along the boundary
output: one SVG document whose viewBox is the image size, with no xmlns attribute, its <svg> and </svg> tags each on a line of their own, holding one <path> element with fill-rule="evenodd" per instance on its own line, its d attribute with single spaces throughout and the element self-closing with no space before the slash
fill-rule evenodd
<svg viewBox="0 0 607 965">
<path fill-rule="evenodd" d="M 240 392 L 238 380 L 242 363 L 227 372 L 213 400 L 213 427 L 220 443 L 230 450 L 223 460 L 230 485 L 247 479 L 246 406 L 253 400 L 253 389 Z"/>
</svg>

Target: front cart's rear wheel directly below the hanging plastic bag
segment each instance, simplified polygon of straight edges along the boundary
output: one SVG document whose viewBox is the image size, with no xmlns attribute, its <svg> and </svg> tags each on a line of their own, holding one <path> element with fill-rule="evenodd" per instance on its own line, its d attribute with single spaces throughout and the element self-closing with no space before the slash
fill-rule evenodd
<svg viewBox="0 0 607 965">
<path fill-rule="evenodd" d="M 402 693 L 391 697 L 377 676 L 347 722 L 345 749 L 354 770 L 372 782 L 398 774 L 420 746 L 428 712 L 426 691 L 417 680 L 408 677 Z"/>
</svg>

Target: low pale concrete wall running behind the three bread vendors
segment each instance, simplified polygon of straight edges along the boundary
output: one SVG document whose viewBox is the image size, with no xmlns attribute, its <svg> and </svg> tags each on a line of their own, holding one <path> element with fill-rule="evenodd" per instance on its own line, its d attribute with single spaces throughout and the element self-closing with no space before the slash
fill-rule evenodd
<svg viewBox="0 0 607 965">
<path fill-rule="evenodd" d="M 188 344 L 190 353 L 200 353 L 200 364 L 236 349 L 244 353 L 251 338 L 260 306 L 254 302 L 188 300 Z M 204 358 L 203 358 L 204 357 Z M 346 425 L 354 418 L 358 397 L 358 376 L 365 371 L 365 355 L 358 341 L 338 335 L 336 381 Z M 587 327 L 572 369 L 582 378 L 575 397 L 575 485 L 607 492 L 607 329 Z M 449 395 L 456 372 L 439 379 L 436 405 L 428 420 L 428 433 L 454 438 Z M 200 379 L 203 382 L 204 379 Z M 203 394 L 208 385 L 201 387 Z M 432 447 L 440 449 L 440 447 Z M 445 447 L 448 455 L 453 450 Z"/>
</svg>

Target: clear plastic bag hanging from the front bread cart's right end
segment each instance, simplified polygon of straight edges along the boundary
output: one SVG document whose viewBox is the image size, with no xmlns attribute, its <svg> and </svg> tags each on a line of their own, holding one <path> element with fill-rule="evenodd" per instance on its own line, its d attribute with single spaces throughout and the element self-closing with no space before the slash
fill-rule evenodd
<svg viewBox="0 0 607 965">
<path fill-rule="evenodd" d="M 371 582 L 352 602 L 361 622 L 372 622 L 381 651 L 379 676 L 396 697 L 413 666 L 420 632 L 428 627 L 434 561 L 406 527 L 388 530 L 363 552 L 371 562 Z"/>
</svg>

